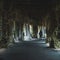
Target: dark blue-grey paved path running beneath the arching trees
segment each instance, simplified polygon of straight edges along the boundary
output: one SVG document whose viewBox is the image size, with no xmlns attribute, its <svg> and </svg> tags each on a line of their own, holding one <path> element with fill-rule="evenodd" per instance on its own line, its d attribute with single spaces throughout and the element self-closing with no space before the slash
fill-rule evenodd
<svg viewBox="0 0 60 60">
<path fill-rule="evenodd" d="M 0 60 L 60 60 L 60 52 L 47 48 L 41 41 L 22 42 L 10 46 Z"/>
</svg>

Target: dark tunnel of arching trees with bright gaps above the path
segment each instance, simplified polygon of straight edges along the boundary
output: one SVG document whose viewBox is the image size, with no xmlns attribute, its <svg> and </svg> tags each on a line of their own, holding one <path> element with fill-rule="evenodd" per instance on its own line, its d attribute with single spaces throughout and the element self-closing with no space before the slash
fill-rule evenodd
<svg viewBox="0 0 60 60">
<path fill-rule="evenodd" d="M 50 5 L 48 3 L 46 5 L 31 1 L 28 4 L 14 0 L 7 2 L 3 0 L 0 3 L 0 43 L 3 46 L 14 42 L 32 41 L 34 38 L 43 38 L 46 39 L 46 43 L 50 43 L 51 37 L 54 45 L 60 46 L 56 42 L 59 40 L 55 39 L 60 26 L 58 3 L 52 1 L 49 2 Z"/>
</svg>

